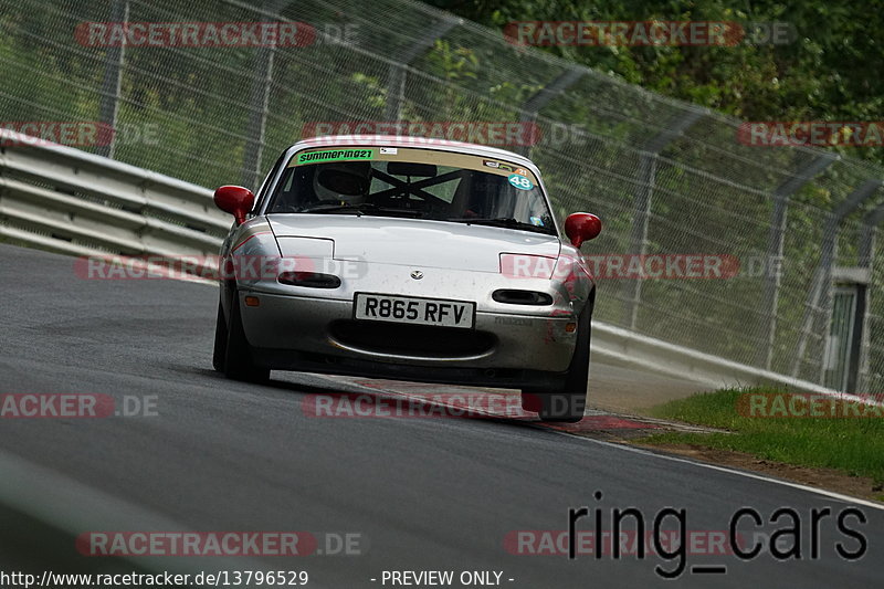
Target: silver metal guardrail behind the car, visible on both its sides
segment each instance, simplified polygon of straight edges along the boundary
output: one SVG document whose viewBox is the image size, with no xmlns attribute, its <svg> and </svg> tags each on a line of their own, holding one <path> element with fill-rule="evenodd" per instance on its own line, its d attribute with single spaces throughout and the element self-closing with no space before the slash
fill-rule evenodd
<svg viewBox="0 0 884 589">
<path fill-rule="evenodd" d="M 0 130 L 0 235 L 73 255 L 213 255 L 230 228 L 212 192 L 78 149 Z M 709 388 L 778 385 L 832 392 L 593 322 L 592 354 Z"/>
</svg>

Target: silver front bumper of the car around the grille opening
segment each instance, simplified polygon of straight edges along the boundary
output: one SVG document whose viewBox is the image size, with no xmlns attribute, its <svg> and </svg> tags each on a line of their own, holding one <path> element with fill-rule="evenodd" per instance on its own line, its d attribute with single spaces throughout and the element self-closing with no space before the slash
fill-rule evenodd
<svg viewBox="0 0 884 589">
<path fill-rule="evenodd" d="M 328 371 L 365 375 L 369 368 L 378 376 L 396 378 L 469 382 L 474 385 L 499 383 L 517 372 L 550 372 L 567 370 L 577 344 L 576 332 L 568 333 L 566 325 L 576 318 L 568 316 L 535 316 L 477 311 L 475 336 L 485 344 L 466 349 L 431 349 L 414 351 L 396 341 L 376 343 L 370 338 L 357 341 L 343 337 L 336 326 L 358 323 L 369 333 L 383 326 L 375 322 L 354 322 L 352 302 L 333 298 L 270 294 L 241 290 L 240 309 L 243 328 L 255 350 L 255 361 L 275 369 Z M 245 296 L 257 296 L 260 306 L 245 306 Z M 383 324 L 389 325 L 389 324 Z M 440 329 L 440 328 L 429 328 Z M 389 335 L 389 334 L 387 334 Z M 453 334 L 464 336 L 466 334 Z M 487 345 L 486 345 L 487 344 Z M 337 365 L 337 369 L 317 370 L 316 366 Z M 354 367 L 348 372 L 348 366 Z M 429 369 L 441 370 L 431 377 Z M 413 375 L 412 375 L 413 372 Z M 443 375 L 449 375 L 444 377 Z M 485 375 L 485 381 L 478 377 Z"/>
</svg>

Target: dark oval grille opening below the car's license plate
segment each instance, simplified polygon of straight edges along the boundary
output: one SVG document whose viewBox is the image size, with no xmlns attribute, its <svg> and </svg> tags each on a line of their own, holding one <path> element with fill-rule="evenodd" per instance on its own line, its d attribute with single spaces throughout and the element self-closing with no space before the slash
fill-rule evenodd
<svg viewBox="0 0 884 589">
<path fill-rule="evenodd" d="M 476 356 L 497 343 L 494 335 L 475 329 L 355 319 L 334 322 L 330 334 L 345 346 L 368 351 L 439 358 Z"/>
</svg>

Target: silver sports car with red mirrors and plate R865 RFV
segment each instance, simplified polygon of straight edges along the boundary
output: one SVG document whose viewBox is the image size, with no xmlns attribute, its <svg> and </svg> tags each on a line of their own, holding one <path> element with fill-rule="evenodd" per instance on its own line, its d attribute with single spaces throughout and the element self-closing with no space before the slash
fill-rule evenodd
<svg viewBox="0 0 884 589">
<path fill-rule="evenodd" d="M 501 387 L 547 421 L 586 406 L 596 286 L 527 158 L 413 137 L 286 149 L 257 194 L 223 186 L 214 367 Z"/>
</svg>

